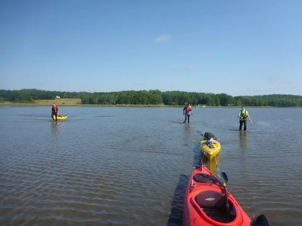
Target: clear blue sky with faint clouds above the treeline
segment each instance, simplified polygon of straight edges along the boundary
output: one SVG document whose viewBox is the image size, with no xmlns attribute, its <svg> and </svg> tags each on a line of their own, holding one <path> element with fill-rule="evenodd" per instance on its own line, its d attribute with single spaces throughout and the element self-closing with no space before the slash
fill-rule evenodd
<svg viewBox="0 0 302 226">
<path fill-rule="evenodd" d="M 302 1 L 1 1 L 0 89 L 302 95 Z"/>
</svg>

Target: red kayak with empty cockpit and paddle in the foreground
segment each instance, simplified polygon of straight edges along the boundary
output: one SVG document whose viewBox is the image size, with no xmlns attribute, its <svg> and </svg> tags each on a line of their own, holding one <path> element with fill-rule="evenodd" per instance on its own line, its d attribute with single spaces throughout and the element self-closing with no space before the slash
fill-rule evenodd
<svg viewBox="0 0 302 226">
<path fill-rule="evenodd" d="M 218 170 L 217 177 L 203 164 L 194 167 L 187 183 L 183 226 L 269 226 L 263 214 L 252 221 L 243 211 L 226 189 L 225 173 Z"/>
</svg>

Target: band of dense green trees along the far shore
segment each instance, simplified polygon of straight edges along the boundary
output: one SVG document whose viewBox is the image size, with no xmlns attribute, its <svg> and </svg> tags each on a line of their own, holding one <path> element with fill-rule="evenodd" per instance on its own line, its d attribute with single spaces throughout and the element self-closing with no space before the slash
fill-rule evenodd
<svg viewBox="0 0 302 226">
<path fill-rule="evenodd" d="M 207 105 L 207 106 L 272 106 L 302 107 L 302 96 L 271 94 L 257 96 L 231 96 L 199 92 L 140 90 L 120 92 L 60 92 L 40 89 L 0 90 L 0 103 L 34 104 L 35 100 L 61 98 L 81 99 L 83 105 Z"/>
</svg>

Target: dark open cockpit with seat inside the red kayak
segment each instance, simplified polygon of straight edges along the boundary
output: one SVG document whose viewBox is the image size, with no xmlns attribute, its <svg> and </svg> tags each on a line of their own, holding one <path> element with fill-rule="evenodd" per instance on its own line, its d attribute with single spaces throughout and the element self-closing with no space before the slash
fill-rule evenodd
<svg viewBox="0 0 302 226">
<path fill-rule="evenodd" d="M 226 197 L 218 191 L 202 191 L 195 201 L 204 213 L 217 222 L 229 223 L 236 218 L 236 210 L 231 202 L 229 204 L 230 219 L 227 217 Z"/>
</svg>

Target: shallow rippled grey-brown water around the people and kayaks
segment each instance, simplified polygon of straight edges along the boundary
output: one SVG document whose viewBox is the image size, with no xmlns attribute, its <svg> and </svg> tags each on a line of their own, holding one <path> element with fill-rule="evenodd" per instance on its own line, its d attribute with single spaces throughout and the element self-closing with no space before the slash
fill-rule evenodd
<svg viewBox="0 0 302 226">
<path fill-rule="evenodd" d="M 196 131 L 221 141 L 227 188 L 253 218 L 301 225 L 302 109 L 0 107 L 0 225 L 182 225 Z M 204 161 L 216 172 L 215 159 Z"/>
</svg>

